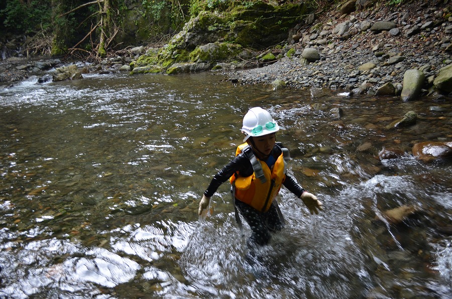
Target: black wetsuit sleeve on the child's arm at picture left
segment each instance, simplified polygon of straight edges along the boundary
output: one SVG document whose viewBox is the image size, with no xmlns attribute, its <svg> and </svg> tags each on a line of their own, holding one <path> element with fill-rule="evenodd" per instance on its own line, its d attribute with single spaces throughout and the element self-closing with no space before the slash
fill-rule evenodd
<svg viewBox="0 0 452 299">
<path fill-rule="evenodd" d="M 211 197 L 215 193 L 216 189 L 218 189 L 221 184 L 229 180 L 229 178 L 231 178 L 231 176 L 236 172 L 239 172 L 245 177 L 253 174 L 251 162 L 243 154 L 236 156 L 234 160 L 224 166 L 215 176 L 213 176 L 209 187 L 207 187 L 207 190 L 204 191 L 204 195 L 206 197 Z"/>
</svg>

